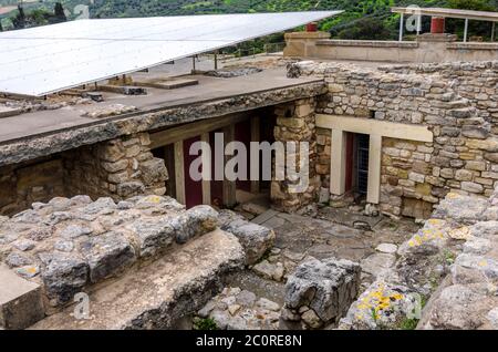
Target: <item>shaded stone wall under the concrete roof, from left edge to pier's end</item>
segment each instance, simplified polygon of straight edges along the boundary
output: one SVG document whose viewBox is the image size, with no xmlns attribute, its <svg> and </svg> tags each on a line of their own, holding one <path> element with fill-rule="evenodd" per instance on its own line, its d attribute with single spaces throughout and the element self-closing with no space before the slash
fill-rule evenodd
<svg viewBox="0 0 498 352">
<path fill-rule="evenodd" d="M 154 158 L 149 144 L 148 134 L 142 133 L 2 167 L 0 214 L 12 215 L 58 196 L 121 200 L 164 195 L 166 166 Z"/>
</svg>

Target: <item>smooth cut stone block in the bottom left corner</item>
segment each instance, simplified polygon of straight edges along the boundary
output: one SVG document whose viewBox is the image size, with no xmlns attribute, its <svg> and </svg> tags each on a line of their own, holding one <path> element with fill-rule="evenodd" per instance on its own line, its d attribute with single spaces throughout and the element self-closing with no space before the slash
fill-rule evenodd
<svg viewBox="0 0 498 352">
<path fill-rule="evenodd" d="M 43 317 L 40 286 L 0 265 L 0 328 L 25 329 Z"/>
</svg>

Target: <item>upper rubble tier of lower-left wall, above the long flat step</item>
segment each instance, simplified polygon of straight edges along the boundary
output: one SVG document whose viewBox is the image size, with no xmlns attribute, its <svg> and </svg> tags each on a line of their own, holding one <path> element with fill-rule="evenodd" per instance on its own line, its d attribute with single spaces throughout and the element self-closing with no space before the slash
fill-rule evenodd
<svg viewBox="0 0 498 352">
<path fill-rule="evenodd" d="M 50 303 L 63 306 L 136 261 L 157 259 L 175 241 L 185 244 L 216 228 L 212 208 L 187 211 L 169 197 L 137 196 L 118 205 L 108 197 L 56 198 L 2 220 L 0 260 L 42 282 Z"/>
</svg>

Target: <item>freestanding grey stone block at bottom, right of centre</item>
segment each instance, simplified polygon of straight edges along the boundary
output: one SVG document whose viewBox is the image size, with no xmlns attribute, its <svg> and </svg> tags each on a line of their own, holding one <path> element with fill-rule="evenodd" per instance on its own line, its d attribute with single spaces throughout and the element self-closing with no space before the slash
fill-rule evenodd
<svg viewBox="0 0 498 352">
<path fill-rule="evenodd" d="M 298 266 L 286 284 L 286 307 L 311 308 L 323 323 L 338 322 L 356 298 L 361 268 L 347 260 L 310 259 Z"/>
</svg>

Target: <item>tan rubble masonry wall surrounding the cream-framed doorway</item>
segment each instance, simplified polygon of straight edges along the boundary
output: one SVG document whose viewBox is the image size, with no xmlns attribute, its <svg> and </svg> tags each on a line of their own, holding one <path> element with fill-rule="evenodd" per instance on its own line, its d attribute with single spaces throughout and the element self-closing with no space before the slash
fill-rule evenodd
<svg viewBox="0 0 498 352">
<path fill-rule="evenodd" d="M 384 138 L 384 213 L 426 218 L 449 191 L 492 194 L 498 180 L 498 62 L 380 70 L 303 62 L 298 70 L 325 77 L 329 94 L 318 113 L 426 125 L 433 132 L 434 143 Z M 322 187 L 329 187 L 330 131 L 319 128 L 317 136 L 317 173 Z"/>
</svg>

